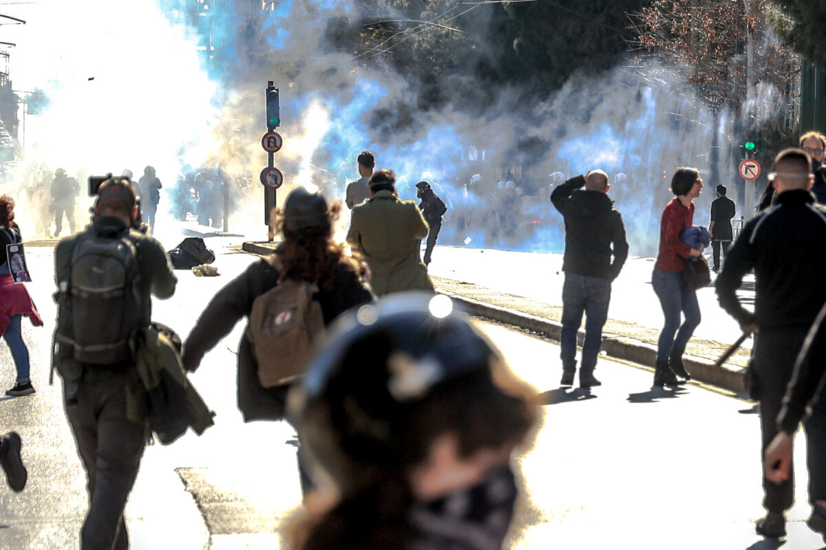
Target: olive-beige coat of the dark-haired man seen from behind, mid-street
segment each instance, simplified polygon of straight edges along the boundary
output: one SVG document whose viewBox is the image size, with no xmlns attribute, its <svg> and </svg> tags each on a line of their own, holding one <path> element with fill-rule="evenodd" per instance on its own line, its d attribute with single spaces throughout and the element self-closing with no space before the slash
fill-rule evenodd
<svg viewBox="0 0 826 550">
<path fill-rule="evenodd" d="M 353 209 L 347 242 L 360 251 L 373 278 L 377 296 L 402 290 L 430 290 L 433 283 L 419 259 L 420 240 L 427 236 L 427 223 L 412 200 L 401 200 L 390 191 Z"/>
</svg>

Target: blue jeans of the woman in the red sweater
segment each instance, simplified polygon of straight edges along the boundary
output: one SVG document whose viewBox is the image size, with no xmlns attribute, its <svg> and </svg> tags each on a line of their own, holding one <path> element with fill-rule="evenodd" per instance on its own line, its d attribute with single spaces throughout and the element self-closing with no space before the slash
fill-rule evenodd
<svg viewBox="0 0 826 550">
<path fill-rule="evenodd" d="M 697 293 L 683 284 L 681 271 L 672 273 L 655 267 L 651 284 L 660 299 L 662 314 L 666 317 L 657 341 L 657 361 L 667 361 L 672 349 L 680 352 L 686 349 L 688 339 L 700 324 L 700 303 L 697 303 Z M 685 317 L 682 324 L 680 313 Z"/>
</svg>

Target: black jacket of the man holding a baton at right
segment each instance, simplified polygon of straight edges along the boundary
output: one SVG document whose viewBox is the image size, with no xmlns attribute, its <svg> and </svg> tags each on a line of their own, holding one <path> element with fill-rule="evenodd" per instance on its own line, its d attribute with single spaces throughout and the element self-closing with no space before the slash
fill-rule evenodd
<svg viewBox="0 0 826 550">
<path fill-rule="evenodd" d="M 826 302 L 826 207 L 806 190 L 777 195 L 734 241 L 717 278 L 719 303 L 742 326 L 809 327 Z M 737 299 L 743 276 L 754 270 L 754 315 Z"/>
</svg>

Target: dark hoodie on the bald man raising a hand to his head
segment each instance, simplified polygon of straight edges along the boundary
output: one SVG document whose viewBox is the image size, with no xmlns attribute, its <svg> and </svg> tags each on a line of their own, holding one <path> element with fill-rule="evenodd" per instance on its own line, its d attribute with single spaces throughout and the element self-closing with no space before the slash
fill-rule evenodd
<svg viewBox="0 0 826 550">
<path fill-rule="evenodd" d="M 585 178 L 576 176 L 551 194 L 553 205 L 565 219 L 563 270 L 615 280 L 628 257 L 622 215 L 605 193 L 579 190 L 584 185 Z"/>
</svg>

